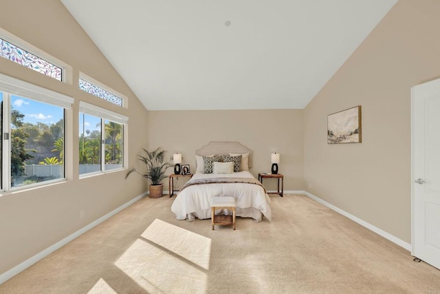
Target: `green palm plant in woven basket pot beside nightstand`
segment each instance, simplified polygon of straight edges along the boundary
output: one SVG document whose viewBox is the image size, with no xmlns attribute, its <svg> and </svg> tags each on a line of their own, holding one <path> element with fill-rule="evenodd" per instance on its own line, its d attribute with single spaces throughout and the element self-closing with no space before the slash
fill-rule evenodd
<svg viewBox="0 0 440 294">
<path fill-rule="evenodd" d="M 140 154 L 137 155 L 140 161 L 144 162 L 146 167 L 146 173 L 141 174 L 135 168 L 131 169 L 126 173 L 125 178 L 130 176 L 132 173 L 137 173 L 146 178 L 151 182 L 150 185 L 150 198 L 159 198 L 162 197 L 162 193 L 164 191 L 164 185 L 162 184 L 162 180 L 168 178 L 165 176 L 165 171 L 168 167 L 173 167 L 170 162 L 165 161 L 165 151 L 160 147 L 155 149 L 154 151 L 148 151 L 145 148 L 144 152 L 146 156 L 142 156 Z"/>
</svg>

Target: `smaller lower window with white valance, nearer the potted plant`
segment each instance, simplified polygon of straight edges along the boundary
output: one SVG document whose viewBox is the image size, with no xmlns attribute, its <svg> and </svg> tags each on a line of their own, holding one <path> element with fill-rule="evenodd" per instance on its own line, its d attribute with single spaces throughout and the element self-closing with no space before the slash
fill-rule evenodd
<svg viewBox="0 0 440 294">
<path fill-rule="evenodd" d="M 80 101 L 80 175 L 124 167 L 127 121 L 126 116 Z"/>
</svg>

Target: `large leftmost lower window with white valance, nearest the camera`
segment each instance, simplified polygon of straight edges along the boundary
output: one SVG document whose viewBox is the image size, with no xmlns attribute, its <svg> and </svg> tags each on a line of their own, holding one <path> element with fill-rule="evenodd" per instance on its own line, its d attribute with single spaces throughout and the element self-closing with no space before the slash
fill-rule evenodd
<svg viewBox="0 0 440 294">
<path fill-rule="evenodd" d="M 0 74 L 1 189 L 65 178 L 65 109 L 73 98 Z"/>
</svg>

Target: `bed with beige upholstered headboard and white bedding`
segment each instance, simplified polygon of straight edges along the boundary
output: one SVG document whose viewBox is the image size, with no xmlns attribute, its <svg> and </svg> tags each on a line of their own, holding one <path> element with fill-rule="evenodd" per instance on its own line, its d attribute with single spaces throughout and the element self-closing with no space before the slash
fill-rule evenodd
<svg viewBox="0 0 440 294">
<path fill-rule="evenodd" d="M 203 159 L 214 158 L 214 155 L 226 161 L 233 158 L 234 171 L 224 172 L 222 168 L 230 168 L 230 163 L 225 162 L 223 165 L 214 161 L 212 174 L 203 173 L 203 167 L 206 168 Z M 237 156 L 241 158 L 241 162 L 235 161 Z M 236 216 L 253 218 L 256 222 L 263 220 L 263 216 L 272 220 L 270 198 L 263 185 L 250 173 L 250 167 L 252 151 L 247 147 L 238 142 L 209 143 L 196 151 L 196 173 L 177 194 L 171 211 L 178 220 L 203 220 L 211 218 L 210 203 L 213 197 L 233 196 L 236 201 Z M 216 211 L 217 214 L 230 215 L 230 211 L 219 210 Z"/>
</svg>

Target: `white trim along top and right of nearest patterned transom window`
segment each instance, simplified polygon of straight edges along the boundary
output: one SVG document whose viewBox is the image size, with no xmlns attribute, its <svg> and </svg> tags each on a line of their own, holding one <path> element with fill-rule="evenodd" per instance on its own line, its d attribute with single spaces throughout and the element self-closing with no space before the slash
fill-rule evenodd
<svg viewBox="0 0 440 294">
<path fill-rule="evenodd" d="M 61 82 L 67 83 L 69 81 L 69 84 L 72 85 L 72 67 L 67 65 L 66 63 L 63 63 L 63 61 L 56 59 L 54 56 L 51 56 L 44 52 L 43 50 L 40 50 L 39 48 L 36 48 L 34 45 L 24 41 L 23 39 L 20 39 L 18 36 L 14 36 L 14 34 L 11 34 L 10 32 L 3 30 L 0 28 L 0 38 L 8 41 L 9 43 L 12 43 L 13 45 L 16 45 L 17 47 L 28 51 L 29 53 L 34 54 L 35 56 L 44 59 L 48 63 L 52 63 L 53 65 L 56 65 L 56 67 L 61 68 Z M 12 61 L 13 62 L 13 61 Z M 21 65 L 23 66 L 23 65 Z M 28 68 L 28 67 L 26 67 Z M 32 70 L 32 69 L 30 69 Z M 45 75 L 45 74 L 43 74 Z M 50 76 L 49 76 L 50 77 Z M 52 78 L 52 77 L 50 77 Z"/>
</svg>

